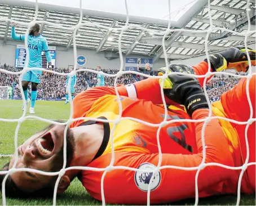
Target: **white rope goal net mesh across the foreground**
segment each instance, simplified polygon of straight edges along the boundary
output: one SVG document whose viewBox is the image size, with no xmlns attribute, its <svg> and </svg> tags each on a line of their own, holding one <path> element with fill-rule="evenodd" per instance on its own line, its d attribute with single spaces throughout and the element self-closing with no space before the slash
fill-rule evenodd
<svg viewBox="0 0 256 206">
<path fill-rule="evenodd" d="M 249 8 L 249 2 L 250 1 L 248 0 L 248 2 L 247 2 L 247 7 L 248 8 Z M 208 62 L 209 62 L 208 38 L 209 38 L 210 33 L 214 32 L 215 30 L 222 30 L 222 31 L 227 31 L 227 32 L 230 32 L 230 33 L 235 33 L 235 34 L 239 34 L 239 33 L 235 32 L 233 30 L 226 29 L 226 28 L 220 28 L 220 27 L 213 28 L 213 26 L 212 26 L 213 22 L 212 22 L 212 19 L 211 19 L 211 10 L 210 10 L 210 0 L 208 1 L 208 5 L 206 7 L 209 8 L 209 24 L 210 24 L 209 29 L 207 29 L 207 30 L 200 30 L 200 31 L 193 30 L 193 32 L 195 32 L 195 33 L 206 33 L 206 37 L 205 37 L 205 52 L 206 52 L 206 57 L 207 57 Z M 105 205 L 104 177 L 107 174 L 107 172 L 112 171 L 113 169 L 127 169 L 127 170 L 135 171 L 135 172 L 153 172 L 153 175 L 152 175 L 151 180 L 150 180 L 149 185 L 148 185 L 148 191 L 147 191 L 147 205 L 150 205 L 151 184 L 152 184 L 153 178 L 155 177 L 155 174 L 157 172 L 159 172 L 161 169 L 164 169 L 164 168 L 182 169 L 182 170 L 185 170 L 185 171 L 197 170 L 196 177 L 195 177 L 195 185 L 196 185 L 195 186 L 195 205 L 197 205 L 198 204 L 198 184 L 197 184 L 198 175 L 199 175 L 199 173 L 200 173 L 200 171 L 202 169 L 204 169 L 205 167 L 208 167 L 210 165 L 211 166 L 212 165 L 216 165 L 218 167 L 223 167 L 223 168 L 227 168 L 227 169 L 235 169 L 235 170 L 241 169 L 241 173 L 240 173 L 240 177 L 239 177 L 239 182 L 238 182 L 238 187 L 237 187 L 237 203 L 236 203 L 237 205 L 239 205 L 239 203 L 240 203 L 240 189 L 241 189 L 242 176 L 243 176 L 246 168 L 249 165 L 255 165 L 256 164 L 256 163 L 248 163 L 248 161 L 249 161 L 249 145 L 248 145 L 247 133 L 248 133 L 248 128 L 249 128 L 250 124 L 255 122 L 255 119 L 253 119 L 253 108 L 252 108 L 251 101 L 250 101 L 250 96 L 249 96 L 249 79 L 252 77 L 253 74 L 252 74 L 252 69 L 251 69 L 251 62 L 250 62 L 250 56 L 249 56 L 249 53 L 248 53 L 248 48 L 246 46 L 246 42 L 247 42 L 248 36 L 255 32 L 255 31 L 251 31 L 250 30 L 250 21 L 248 21 L 248 32 L 246 32 L 246 34 L 245 34 L 245 41 L 244 41 L 244 44 L 245 44 L 245 47 L 246 47 L 246 55 L 248 56 L 248 59 L 249 59 L 248 75 L 244 76 L 244 75 L 237 75 L 237 74 L 232 74 L 232 73 L 218 72 L 218 74 L 228 74 L 228 75 L 231 75 L 233 77 L 239 77 L 239 78 L 246 77 L 246 78 L 248 78 L 248 81 L 246 83 L 246 95 L 247 95 L 249 106 L 250 106 L 250 118 L 248 119 L 248 121 L 246 121 L 246 122 L 237 122 L 236 120 L 228 119 L 228 118 L 223 118 L 223 117 L 211 117 L 211 114 L 212 114 L 211 106 L 209 106 L 210 112 L 209 112 L 208 118 L 206 118 L 206 119 L 200 119 L 200 120 L 191 120 L 191 119 L 175 120 L 174 119 L 174 120 L 167 121 L 167 106 L 166 106 L 166 102 L 165 102 L 165 98 L 164 98 L 164 91 L 163 91 L 164 81 L 162 81 L 162 84 L 161 84 L 161 95 L 162 95 L 162 101 L 164 102 L 165 118 L 164 118 L 164 121 L 161 122 L 160 124 L 152 124 L 152 123 L 144 122 L 144 121 L 142 121 L 140 119 L 122 118 L 122 104 L 121 104 L 120 96 L 119 96 L 119 94 L 117 92 L 117 79 L 120 78 L 123 74 L 138 74 L 138 75 L 143 75 L 144 77 L 148 77 L 148 78 L 161 78 L 161 79 L 165 79 L 165 78 L 167 78 L 167 74 L 165 74 L 165 75 L 163 75 L 161 77 L 152 77 L 152 76 L 149 76 L 149 75 L 138 73 L 136 71 L 123 71 L 122 70 L 123 69 L 123 55 L 122 55 L 122 50 L 121 50 L 122 34 L 126 30 L 129 30 L 129 29 L 132 29 L 132 28 L 138 28 L 138 29 L 144 30 L 144 32 L 151 32 L 153 34 L 163 35 L 163 37 L 162 37 L 162 49 L 164 51 L 165 65 L 167 67 L 169 64 L 168 64 L 167 53 L 166 53 L 166 49 L 165 49 L 165 38 L 166 38 L 166 36 L 168 34 L 170 34 L 171 32 L 175 32 L 175 31 L 187 32 L 189 30 L 187 30 L 187 29 L 170 29 L 170 27 L 171 27 L 171 20 L 170 20 L 170 17 L 171 17 L 171 12 L 170 12 L 171 3 L 170 3 L 170 0 L 168 1 L 169 24 L 167 26 L 167 29 L 164 32 L 156 32 L 154 30 L 144 28 L 144 27 L 142 27 L 140 25 L 129 24 L 129 10 L 127 8 L 127 0 L 125 0 L 125 8 L 126 8 L 126 23 L 121 28 L 109 28 L 107 26 L 100 25 L 100 24 L 95 24 L 95 23 L 82 23 L 82 18 L 83 18 L 82 0 L 80 0 L 80 20 L 79 20 L 78 24 L 76 26 L 73 26 L 73 27 L 63 27 L 63 26 L 60 26 L 58 24 L 50 23 L 48 21 L 36 21 L 37 16 L 38 16 L 38 1 L 37 0 L 36 0 L 36 13 L 34 15 L 33 21 L 30 22 L 30 23 L 24 23 L 24 22 L 15 21 L 15 20 L 11 20 L 11 19 L 6 19 L 6 18 L 3 18 L 3 17 L 0 17 L 0 21 L 6 21 L 6 22 L 10 21 L 11 23 L 18 23 L 20 25 L 28 26 L 28 29 L 27 29 L 27 32 L 26 32 L 27 34 L 29 32 L 30 26 L 32 26 L 34 23 L 49 24 L 49 25 L 55 26 L 56 28 L 65 29 L 65 30 L 71 30 L 71 31 L 73 31 L 73 34 L 74 34 L 73 35 L 74 69 L 73 69 L 73 71 L 71 73 L 68 73 L 68 74 L 67 73 L 59 73 L 59 72 L 52 71 L 52 70 L 47 70 L 47 69 L 28 68 L 27 65 L 28 65 L 28 59 L 29 59 L 29 52 L 28 52 L 28 45 L 27 45 L 27 35 L 25 36 L 25 47 L 26 47 L 27 55 L 28 56 L 27 56 L 26 61 L 25 61 L 24 69 L 22 71 L 19 71 L 19 72 L 12 72 L 12 71 L 8 71 L 8 70 L 0 69 L 0 71 L 3 72 L 3 73 L 20 75 L 19 76 L 20 91 L 23 91 L 22 87 L 21 87 L 21 79 L 22 79 L 23 75 L 28 70 L 42 70 L 42 71 L 46 71 L 46 72 L 54 73 L 54 74 L 58 74 L 58 75 L 69 75 L 70 77 L 72 77 L 73 74 L 76 74 L 79 71 L 89 71 L 89 72 L 92 72 L 92 73 L 95 73 L 95 74 L 99 74 L 99 71 L 95 71 L 95 70 L 91 70 L 91 69 L 77 69 L 77 62 L 76 62 L 77 47 L 76 47 L 76 35 L 75 34 L 77 33 L 77 30 L 81 26 L 94 25 L 94 26 L 98 26 L 99 28 L 112 29 L 115 32 L 116 31 L 121 32 L 120 36 L 119 36 L 119 39 L 118 39 L 118 51 L 119 51 L 119 55 L 120 55 L 120 70 L 118 71 L 117 74 L 106 74 L 106 73 L 104 73 L 104 75 L 107 76 L 107 77 L 115 78 L 114 79 L 114 89 L 116 91 L 116 96 L 117 96 L 118 105 L 119 105 L 119 118 L 117 118 L 116 120 L 104 120 L 104 119 L 95 119 L 95 118 L 76 118 L 76 119 L 72 119 L 72 116 L 73 116 L 73 102 L 72 102 L 71 93 L 70 93 L 71 78 L 69 78 L 69 82 L 68 82 L 68 87 L 67 88 L 68 88 L 68 95 L 69 95 L 69 99 L 70 99 L 70 115 L 69 115 L 69 119 L 67 120 L 67 122 L 59 123 L 59 122 L 54 122 L 53 120 L 50 120 L 50 119 L 44 119 L 44 118 L 40 118 L 40 117 L 37 117 L 37 116 L 32 116 L 32 115 L 25 116 L 25 111 L 27 109 L 27 105 L 25 104 L 25 97 L 24 97 L 24 93 L 23 92 L 21 92 L 21 96 L 23 98 L 23 105 L 25 106 L 23 115 L 19 119 L 0 119 L 0 121 L 5 121 L 5 122 L 17 122 L 17 127 L 16 127 L 16 130 L 15 130 L 15 138 L 14 138 L 14 145 L 15 145 L 15 162 L 14 162 L 14 165 L 8 171 L 0 171 L 0 174 L 7 174 L 5 176 L 5 178 L 3 180 L 3 184 L 2 184 L 2 203 L 3 203 L 3 205 L 6 205 L 5 183 L 6 183 L 7 177 L 11 173 L 14 173 L 14 172 L 17 172 L 17 171 L 34 172 L 34 173 L 44 174 L 44 175 L 48 175 L 48 176 L 56 176 L 56 175 L 58 175 L 58 179 L 57 179 L 56 184 L 55 184 L 54 198 L 53 198 L 53 205 L 56 205 L 56 192 L 57 192 L 57 189 L 58 189 L 60 178 L 64 175 L 65 171 L 68 171 L 68 170 L 71 170 L 71 169 L 90 170 L 90 171 L 104 171 L 103 176 L 101 177 L 101 198 L 102 198 L 102 204 L 103 205 Z M 250 19 L 249 18 L 249 10 L 246 10 L 246 15 L 247 15 L 248 19 Z M 173 74 L 177 74 L 177 73 L 173 73 Z M 207 99 L 209 105 L 210 105 L 210 100 L 209 100 L 209 97 L 208 97 L 208 93 L 206 92 L 206 79 L 211 77 L 211 75 L 214 75 L 214 74 L 215 74 L 214 72 L 210 71 L 210 64 L 209 64 L 209 68 L 208 68 L 208 73 L 206 73 L 205 75 L 186 74 L 186 75 L 197 77 L 197 78 L 198 77 L 204 78 L 204 93 L 205 93 L 205 96 L 206 96 L 206 99 Z M 36 169 L 30 169 L 30 168 L 19 168 L 19 169 L 15 168 L 16 164 L 17 164 L 17 159 L 18 159 L 18 154 L 17 154 L 18 132 L 19 132 L 21 123 L 23 123 L 24 120 L 26 120 L 26 119 L 37 119 L 37 120 L 41 120 L 41 121 L 49 123 L 49 124 L 54 123 L 54 124 L 59 124 L 59 125 L 65 125 L 64 153 L 63 153 L 63 155 L 64 155 L 64 164 L 63 164 L 63 169 L 61 169 L 59 172 L 54 172 L 54 173 L 51 172 L 50 173 L 50 172 L 43 172 L 43 171 L 38 171 Z M 113 128 L 111 130 L 111 137 L 110 137 L 111 144 L 112 144 L 112 159 L 111 159 L 111 163 L 109 164 L 108 167 L 100 168 L 100 169 L 99 168 L 92 168 L 92 167 L 69 167 L 69 168 L 65 168 L 66 164 L 67 164 L 67 153 L 66 153 L 66 151 L 67 151 L 67 148 L 66 148 L 67 147 L 67 140 L 66 140 L 67 128 L 69 127 L 69 125 L 72 122 L 74 122 L 76 120 L 81 120 L 81 119 L 82 120 L 96 120 L 98 122 L 112 122 L 112 123 L 114 123 L 114 126 L 113 126 Z M 158 165 L 157 165 L 157 167 L 155 169 L 153 169 L 151 171 L 149 171 L 149 170 L 144 171 L 142 169 L 123 167 L 123 166 L 114 166 L 113 165 L 113 163 L 114 163 L 113 131 L 114 131 L 116 125 L 122 119 L 130 119 L 130 120 L 134 120 L 136 122 L 142 123 L 142 124 L 147 125 L 147 126 L 158 127 L 158 131 L 157 131 L 157 144 L 158 144 L 159 160 L 158 160 Z M 223 164 L 219 164 L 219 163 L 205 163 L 205 158 L 206 158 L 205 148 L 206 147 L 205 147 L 204 133 L 205 133 L 205 127 L 210 122 L 211 119 L 223 119 L 223 120 L 227 120 L 228 122 L 235 123 L 235 124 L 246 124 L 245 140 L 246 140 L 247 156 L 246 156 L 244 165 L 242 165 L 241 167 L 228 167 L 227 165 L 223 165 Z M 204 126 L 202 127 L 202 135 L 201 135 L 201 137 L 202 137 L 202 147 L 203 147 L 203 150 L 202 150 L 203 151 L 203 159 L 202 159 L 201 164 L 198 167 L 193 167 L 193 168 L 189 168 L 189 167 L 176 167 L 174 165 L 160 166 L 161 165 L 161 161 L 162 161 L 162 153 L 161 153 L 161 147 L 160 147 L 160 136 L 159 136 L 160 135 L 160 130 L 166 124 L 175 123 L 175 122 L 191 122 L 191 123 L 192 122 L 193 123 L 204 122 Z M 1 156 L 10 156 L 10 155 L 1 155 Z"/>
</svg>

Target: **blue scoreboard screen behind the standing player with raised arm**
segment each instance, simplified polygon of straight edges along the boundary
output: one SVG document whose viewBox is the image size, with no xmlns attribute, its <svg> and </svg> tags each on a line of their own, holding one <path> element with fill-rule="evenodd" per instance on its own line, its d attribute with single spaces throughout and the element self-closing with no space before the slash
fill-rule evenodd
<svg viewBox="0 0 256 206">
<path fill-rule="evenodd" d="M 51 65 L 55 68 L 56 62 L 56 47 L 49 46 L 51 55 Z M 24 68 L 26 59 L 26 48 L 25 45 L 17 45 L 15 55 L 15 68 Z M 43 68 L 48 68 L 48 62 L 45 56 L 45 52 L 42 52 L 42 65 Z"/>
</svg>

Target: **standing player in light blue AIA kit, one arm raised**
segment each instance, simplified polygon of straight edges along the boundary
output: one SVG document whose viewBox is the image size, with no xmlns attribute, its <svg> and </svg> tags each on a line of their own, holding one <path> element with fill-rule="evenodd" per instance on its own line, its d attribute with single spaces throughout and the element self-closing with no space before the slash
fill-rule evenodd
<svg viewBox="0 0 256 206">
<path fill-rule="evenodd" d="M 21 34 L 17 35 L 15 33 L 15 27 L 17 24 L 12 24 L 11 28 L 11 37 L 17 41 L 25 41 L 25 35 Z M 45 55 L 47 58 L 47 62 L 49 68 L 51 68 L 51 56 L 48 47 L 48 43 L 45 37 L 39 34 L 40 26 L 39 24 L 34 24 L 29 30 L 29 34 L 27 35 L 27 43 L 28 43 L 28 52 L 29 52 L 29 60 L 28 60 L 28 68 L 42 68 L 42 51 L 45 51 Z M 30 114 L 35 114 L 34 105 L 36 104 L 37 99 L 37 85 L 41 82 L 42 70 L 28 70 L 27 73 L 23 75 L 22 78 L 22 88 L 26 100 L 26 104 L 28 105 L 28 84 L 31 82 L 31 107 L 29 109 Z M 24 110 L 24 106 L 22 107 Z"/>
</svg>

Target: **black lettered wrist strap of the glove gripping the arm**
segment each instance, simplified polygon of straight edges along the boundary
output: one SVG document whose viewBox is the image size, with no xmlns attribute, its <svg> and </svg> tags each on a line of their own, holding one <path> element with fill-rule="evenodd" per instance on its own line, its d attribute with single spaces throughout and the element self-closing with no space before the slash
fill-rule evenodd
<svg viewBox="0 0 256 206">
<path fill-rule="evenodd" d="M 187 97 L 184 106 L 186 107 L 187 113 L 190 117 L 192 117 L 193 112 L 197 109 L 209 109 L 204 93 Z"/>
</svg>

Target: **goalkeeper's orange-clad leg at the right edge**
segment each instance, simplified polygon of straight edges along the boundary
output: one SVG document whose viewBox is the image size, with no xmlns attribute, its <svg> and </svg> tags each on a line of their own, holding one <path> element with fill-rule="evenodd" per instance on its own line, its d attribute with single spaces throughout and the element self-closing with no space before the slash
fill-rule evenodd
<svg viewBox="0 0 256 206">
<path fill-rule="evenodd" d="M 229 90 L 220 98 L 224 112 L 227 114 L 227 118 L 237 120 L 240 122 L 246 122 L 250 118 L 250 106 L 248 97 L 246 95 L 246 83 L 249 80 L 249 96 L 252 105 L 252 118 L 255 118 L 255 77 L 256 73 L 249 80 L 242 78 L 233 89 Z M 242 154 L 242 161 L 246 159 L 246 144 L 245 144 L 245 127 L 246 125 L 233 124 L 239 135 L 240 148 Z M 248 132 L 249 143 L 249 163 L 255 162 L 255 121 L 249 126 Z M 253 190 L 255 191 L 255 165 L 251 165 L 246 169 L 247 178 Z M 245 175 L 246 175 L 245 174 Z"/>
</svg>

